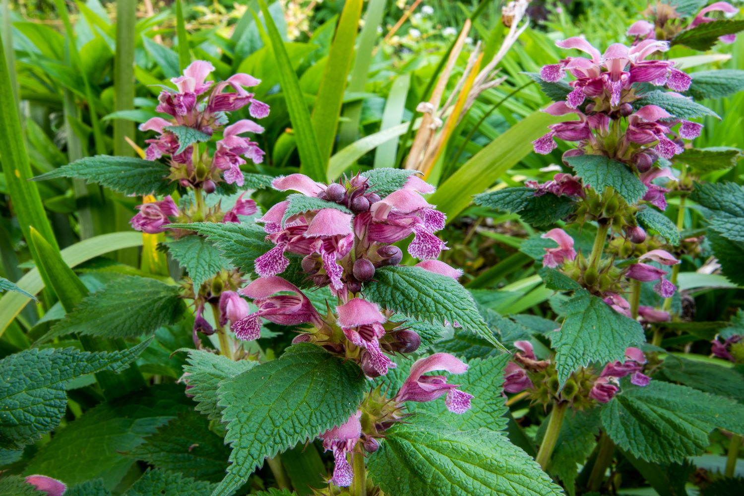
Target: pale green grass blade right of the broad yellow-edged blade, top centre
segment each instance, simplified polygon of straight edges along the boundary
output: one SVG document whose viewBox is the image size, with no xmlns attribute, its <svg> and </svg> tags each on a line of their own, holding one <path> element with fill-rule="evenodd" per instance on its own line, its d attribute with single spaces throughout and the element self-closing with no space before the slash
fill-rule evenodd
<svg viewBox="0 0 744 496">
<path fill-rule="evenodd" d="M 365 25 L 359 33 L 359 48 L 356 49 L 354 67 L 351 71 L 348 90 L 351 92 L 365 91 L 367 76 L 372 63 L 372 50 L 377 41 L 377 28 L 385 16 L 387 0 L 370 0 Z M 344 117 L 348 120 L 341 123 L 339 129 L 339 149 L 353 143 L 359 135 L 359 118 L 362 117 L 362 101 L 348 103 L 344 109 Z M 400 120 L 398 120 L 400 122 Z M 389 126 L 388 126 L 389 127 Z"/>
</svg>

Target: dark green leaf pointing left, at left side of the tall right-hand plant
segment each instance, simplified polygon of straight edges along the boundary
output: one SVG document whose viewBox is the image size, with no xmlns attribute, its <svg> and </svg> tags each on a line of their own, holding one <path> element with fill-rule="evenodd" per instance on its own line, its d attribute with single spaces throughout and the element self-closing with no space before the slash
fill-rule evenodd
<svg viewBox="0 0 744 496">
<path fill-rule="evenodd" d="M 571 196 L 551 193 L 535 196 L 530 187 L 509 187 L 505 190 L 481 193 L 473 199 L 475 204 L 496 208 L 503 212 L 519 213 L 527 224 L 541 227 L 551 225 L 574 213 L 577 204 Z"/>
</svg>

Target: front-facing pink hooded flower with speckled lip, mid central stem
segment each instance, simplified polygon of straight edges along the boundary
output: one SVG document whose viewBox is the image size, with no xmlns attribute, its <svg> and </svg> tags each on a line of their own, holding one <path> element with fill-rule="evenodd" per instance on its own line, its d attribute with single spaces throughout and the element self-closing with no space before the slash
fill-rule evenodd
<svg viewBox="0 0 744 496">
<path fill-rule="evenodd" d="M 353 298 L 343 305 L 336 306 L 339 315 L 339 326 L 346 338 L 368 355 L 368 363 L 380 376 L 388 369 L 396 367 L 393 361 L 380 350 L 379 338 L 385 335 L 382 324 L 387 321 L 379 311 L 379 305 L 362 298 Z"/>
</svg>

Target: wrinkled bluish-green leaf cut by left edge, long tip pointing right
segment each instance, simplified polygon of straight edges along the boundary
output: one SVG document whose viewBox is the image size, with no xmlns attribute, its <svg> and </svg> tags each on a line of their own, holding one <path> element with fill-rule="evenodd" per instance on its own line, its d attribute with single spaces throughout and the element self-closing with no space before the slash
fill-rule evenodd
<svg viewBox="0 0 744 496">
<path fill-rule="evenodd" d="M 56 428 L 67 408 L 65 387 L 71 380 L 103 370 L 121 372 L 149 344 L 114 352 L 32 348 L 0 360 L 0 447 L 23 448 Z"/>
</svg>

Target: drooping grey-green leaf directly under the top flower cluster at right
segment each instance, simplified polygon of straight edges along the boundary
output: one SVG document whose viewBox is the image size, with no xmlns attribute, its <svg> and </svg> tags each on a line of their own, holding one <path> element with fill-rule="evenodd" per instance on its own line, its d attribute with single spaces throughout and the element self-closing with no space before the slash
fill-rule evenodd
<svg viewBox="0 0 744 496">
<path fill-rule="evenodd" d="M 641 179 L 625 164 L 604 155 L 578 155 L 566 158 L 585 186 L 591 186 L 597 193 L 605 187 L 612 187 L 629 204 L 634 204 L 644 196 L 647 187 Z"/>
</svg>

